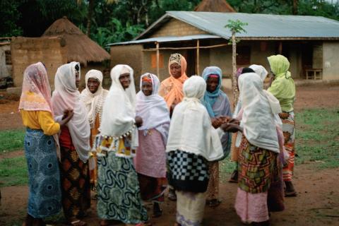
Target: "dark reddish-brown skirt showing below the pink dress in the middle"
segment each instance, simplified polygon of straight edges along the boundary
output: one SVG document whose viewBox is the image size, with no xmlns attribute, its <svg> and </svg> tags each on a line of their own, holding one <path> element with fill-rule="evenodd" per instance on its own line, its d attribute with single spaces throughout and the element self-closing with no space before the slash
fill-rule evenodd
<svg viewBox="0 0 339 226">
<path fill-rule="evenodd" d="M 153 201 L 162 203 L 165 201 L 165 190 L 167 188 L 167 179 L 165 177 L 155 178 L 138 174 L 140 184 L 141 198 L 144 201 Z"/>
</svg>

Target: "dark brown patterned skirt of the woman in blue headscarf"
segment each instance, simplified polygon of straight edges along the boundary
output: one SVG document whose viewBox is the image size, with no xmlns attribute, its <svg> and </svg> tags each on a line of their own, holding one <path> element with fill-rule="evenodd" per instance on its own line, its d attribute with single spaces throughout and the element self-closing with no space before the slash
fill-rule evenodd
<svg viewBox="0 0 339 226">
<path fill-rule="evenodd" d="M 219 162 L 208 162 L 210 179 L 207 187 L 207 200 L 219 198 Z"/>
</svg>

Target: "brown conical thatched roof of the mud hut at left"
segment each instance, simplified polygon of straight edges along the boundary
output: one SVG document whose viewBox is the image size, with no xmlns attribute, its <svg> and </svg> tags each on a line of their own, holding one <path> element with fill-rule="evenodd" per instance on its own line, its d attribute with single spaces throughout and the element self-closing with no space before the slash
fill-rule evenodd
<svg viewBox="0 0 339 226">
<path fill-rule="evenodd" d="M 47 28 L 42 37 L 62 37 L 61 45 L 67 48 L 67 61 L 78 61 L 87 66 L 87 63 L 101 62 L 109 59 L 109 53 L 91 40 L 66 16 L 56 20 Z"/>
</svg>

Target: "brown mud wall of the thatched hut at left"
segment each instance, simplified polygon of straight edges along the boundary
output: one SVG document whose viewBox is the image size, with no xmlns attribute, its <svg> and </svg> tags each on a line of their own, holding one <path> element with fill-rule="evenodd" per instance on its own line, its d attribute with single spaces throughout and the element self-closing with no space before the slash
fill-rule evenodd
<svg viewBox="0 0 339 226">
<path fill-rule="evenodd" d="M 30 64 L 44 63 L 49 84 L 54 84 L 54 76 L 62 64 L 67 63 L 66 48 L 61 47 L 58 37 L 15 37 L 11 41 L 13 82 L 15 87 L 23 83 L 23 72 Z"/>
</svg>

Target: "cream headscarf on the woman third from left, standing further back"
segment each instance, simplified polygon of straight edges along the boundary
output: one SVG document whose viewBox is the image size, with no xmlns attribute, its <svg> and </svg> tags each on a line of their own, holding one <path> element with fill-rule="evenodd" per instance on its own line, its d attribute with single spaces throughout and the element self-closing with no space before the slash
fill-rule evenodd
<svg viewBox="0 0 339 226">
<path fill-rule="evenodd" d="M 95 78 L 100 82 L 97 92 L 92 93 L 88 88 L 88 79 Z M 90 128 L 94 128 L 95 118 L 99 114 L 101 123 L 102 107 L 105 102 L 105 98 L 108 94 L 108 90 L 102 88 L 102 73 L 97 70 L 90 70 L 85 75 L 86 88 L 81 92 L 81 100 L 84 102 L 88 112 L 88 121 L 90 122 Z"/>
</svg>

